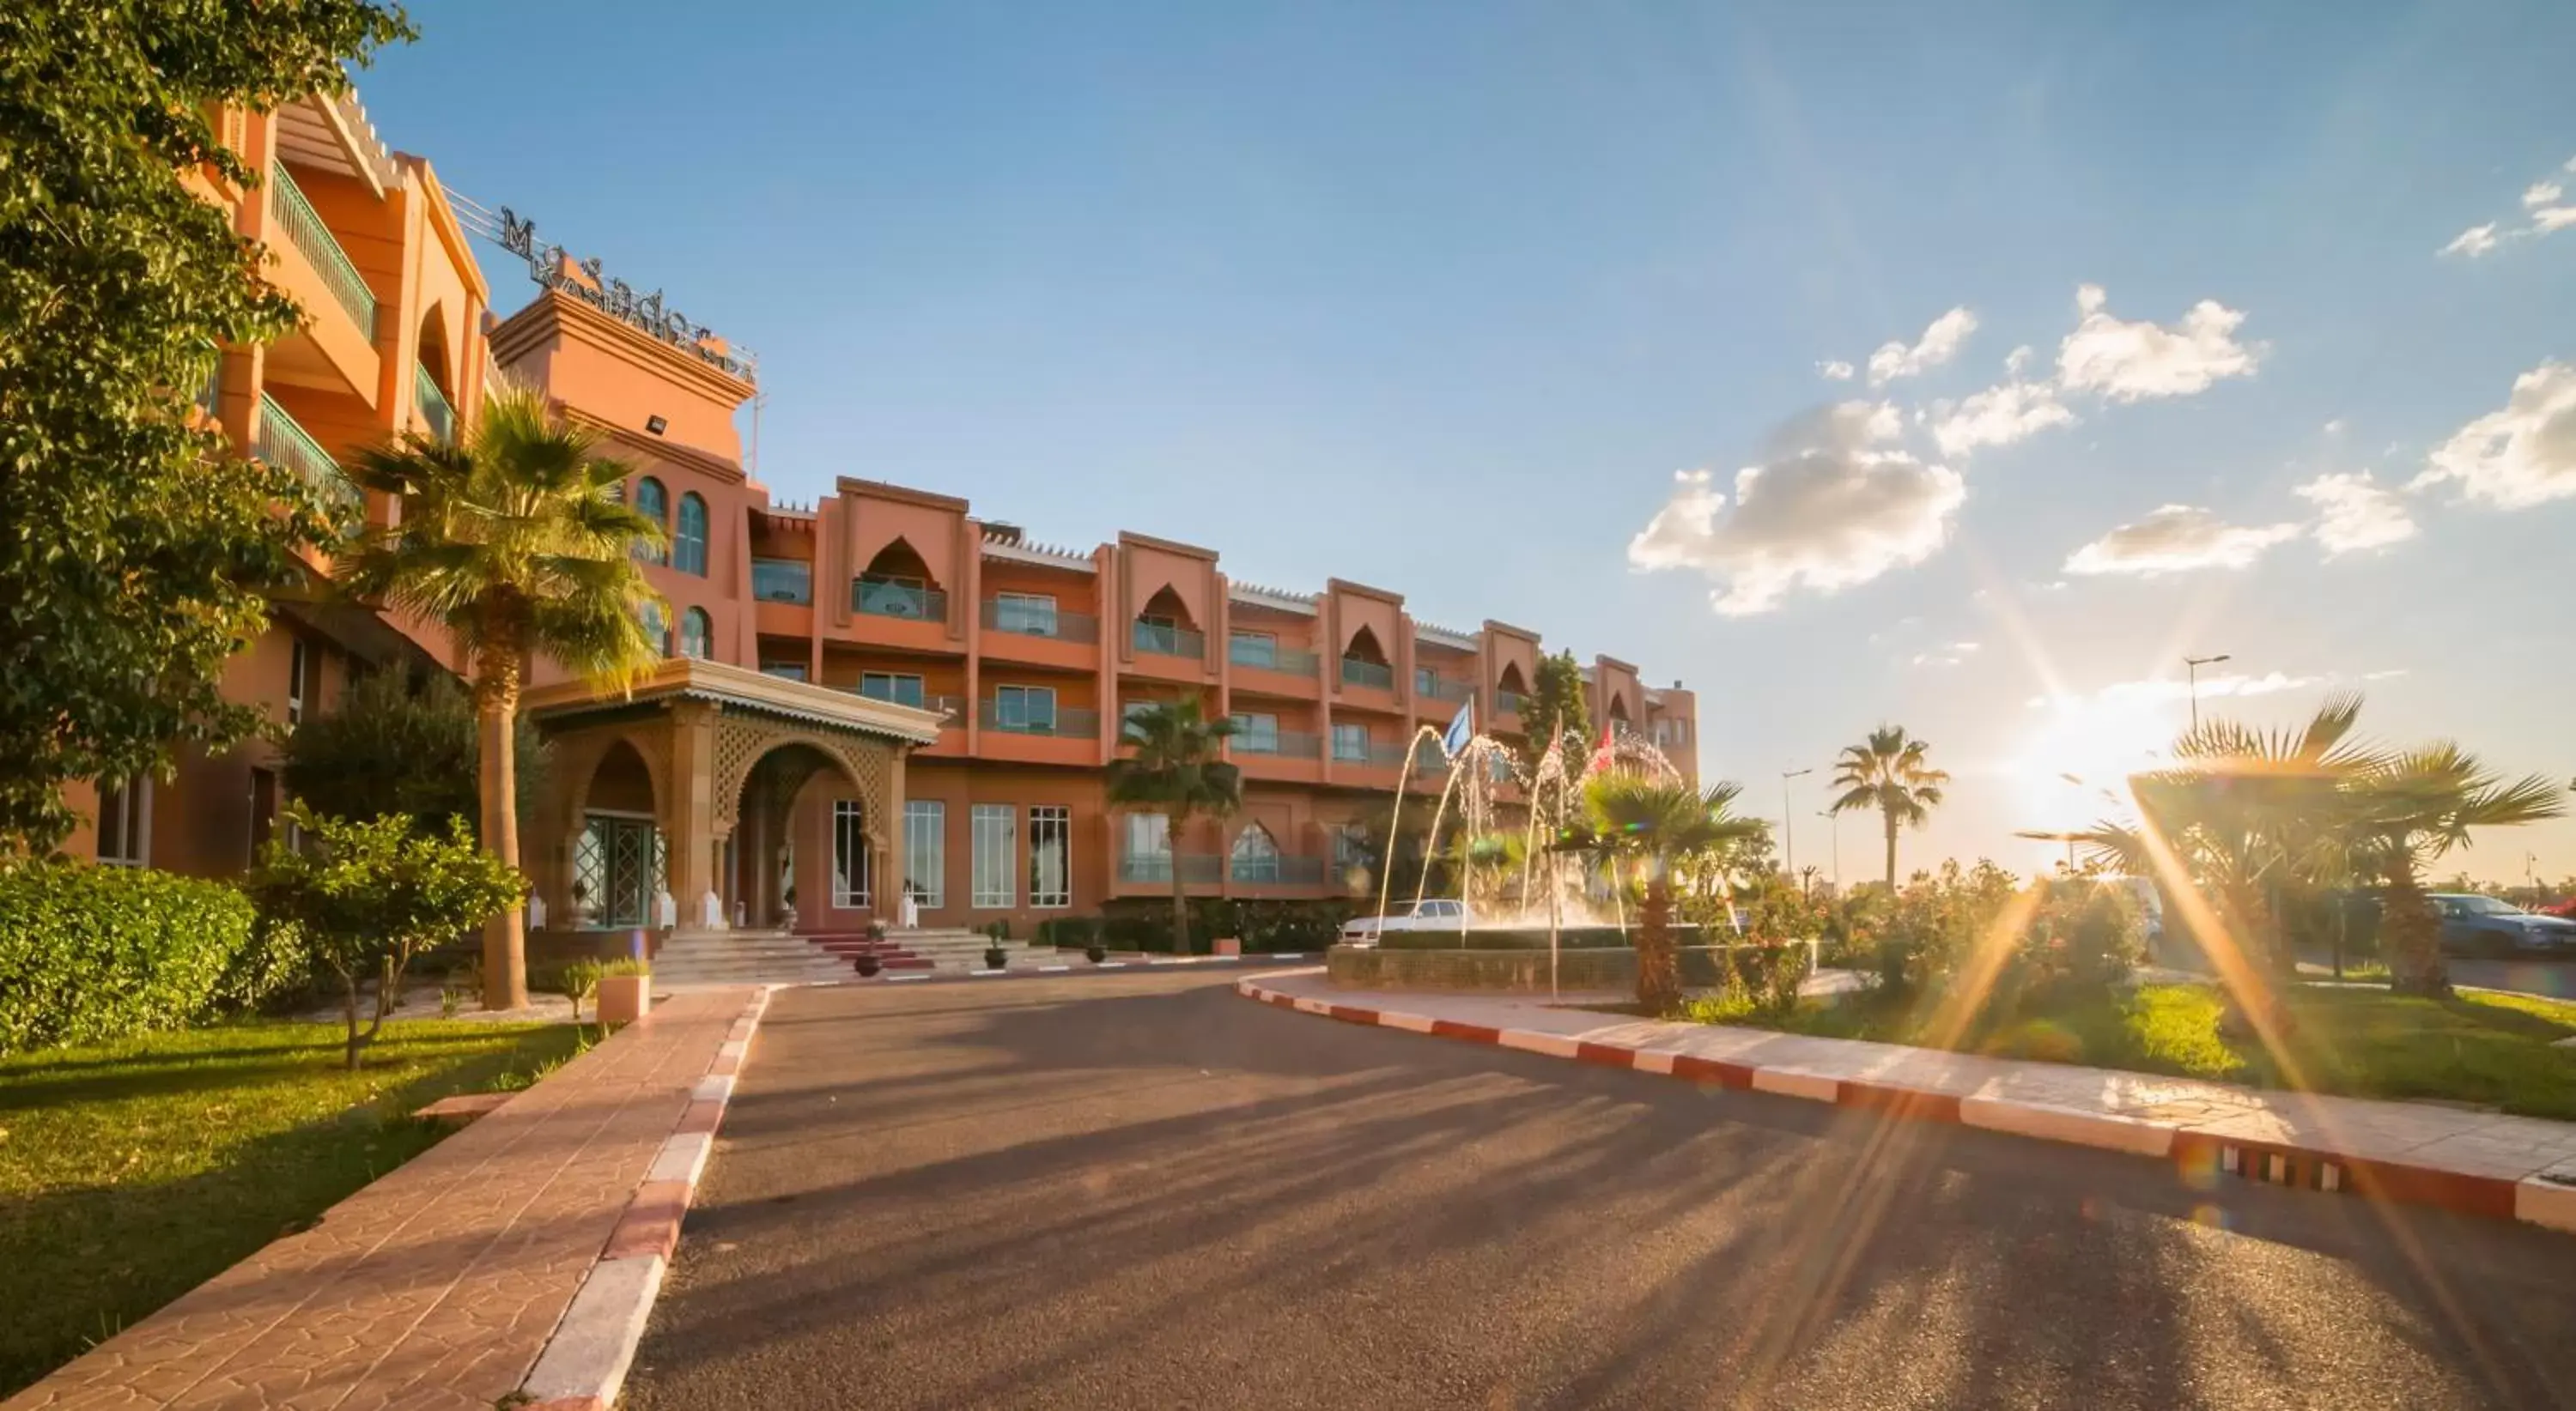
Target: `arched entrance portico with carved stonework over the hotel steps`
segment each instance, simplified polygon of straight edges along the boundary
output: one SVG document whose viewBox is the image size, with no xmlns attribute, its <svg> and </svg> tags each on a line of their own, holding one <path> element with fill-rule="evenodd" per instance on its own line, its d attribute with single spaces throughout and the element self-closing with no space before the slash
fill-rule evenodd
<svg viewBox="0 0 2576 1411">
<path fill-rule="evenodd" d="M 626 693 L 559 682 L 526 713 L 554 747 L 520 865 L 549 917 L 659 930 L 765 930 L 781 919 L 799 857 L 793 806 L 827 780 L 837 796 L 832 901 L 868 878 L 904 875 L 904 757 L 938 739 L 940 716 L 675 659 Z M 634 919 L 641 878 L 654 878 Z M 574 899 L 574 881 L 585 896 Z M 806 914 L 814 899 L 799 896 Z"/>
</svg>

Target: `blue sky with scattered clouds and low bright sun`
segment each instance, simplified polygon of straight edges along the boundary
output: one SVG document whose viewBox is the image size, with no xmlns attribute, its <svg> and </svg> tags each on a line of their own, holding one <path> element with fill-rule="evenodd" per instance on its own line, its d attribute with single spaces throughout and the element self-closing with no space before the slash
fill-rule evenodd
<svg viewBox="0 0 2576 1411">
<path fill-rule="evenodd" d="M 361 93 L 757 348 L 781 497 L 1525 623 L 1770 814 L 1901 721 L 1917 860 L 2097 814 L 2187 651 L 2576 775 L 2576 8 L 840 10 L 420 5 Z"/>
</svg>

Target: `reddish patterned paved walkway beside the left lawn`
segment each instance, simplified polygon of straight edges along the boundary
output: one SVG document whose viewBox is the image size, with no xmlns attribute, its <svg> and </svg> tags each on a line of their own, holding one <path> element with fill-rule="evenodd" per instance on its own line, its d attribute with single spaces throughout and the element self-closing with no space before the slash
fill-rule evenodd
<svg viewBox="0 0 2576 1411">
<path fill-rule="evenodd" d="M 489 1411 L 528 1378 L 752 999 L 670 999 L 0 1411 Z"/>
</svg>

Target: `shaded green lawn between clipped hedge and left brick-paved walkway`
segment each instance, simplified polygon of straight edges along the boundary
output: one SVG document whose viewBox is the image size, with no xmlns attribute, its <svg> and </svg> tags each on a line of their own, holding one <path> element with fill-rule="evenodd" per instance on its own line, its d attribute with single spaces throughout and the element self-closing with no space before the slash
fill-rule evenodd
<svg viewBox="0 0 2576 1411">
<path fill-rule="evenodd" d="M 0 1396 L 307 1228 L 438 1130 L 453 1092 L 526 1087 L 572 1025 L 247 1022 L 0 1058 Z"/>
</svg>

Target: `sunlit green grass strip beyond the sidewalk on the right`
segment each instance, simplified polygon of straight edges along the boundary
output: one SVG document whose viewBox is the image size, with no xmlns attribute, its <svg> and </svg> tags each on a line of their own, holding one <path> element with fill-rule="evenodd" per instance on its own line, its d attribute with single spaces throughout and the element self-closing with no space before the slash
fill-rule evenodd
<svg viewBox="0 0 2576 1411">
<path fill-rule="evenodd" d="M 1700 1012 L 1700 1017 L 1829 1038 L 1940 1045 L 1940 1035 L 1927 1033 L 1927 1009 L 1855 994 L 1844 1004 L 1803 1002 L 1785 1017 L 1734 1012 Z M 2347 1097 L 2439 1097 L 2576 1120 L 2576 1051 L 2550 1048 L 2553 1040 L 2576 1035 L 2576 1004 L 2563 999 L 2530 994 L 2411 999 L 2383 989 L 2300 989 L 2290 996 L 2295 1033 L 2285 1056 L 2254 1040 L 2221 1038 L 2221 1009 L 2213 986 L 2148 984 L 2125 999 L 2066 1004 L 1984 1025 L 1950 1048 Z"/>
</svg>

